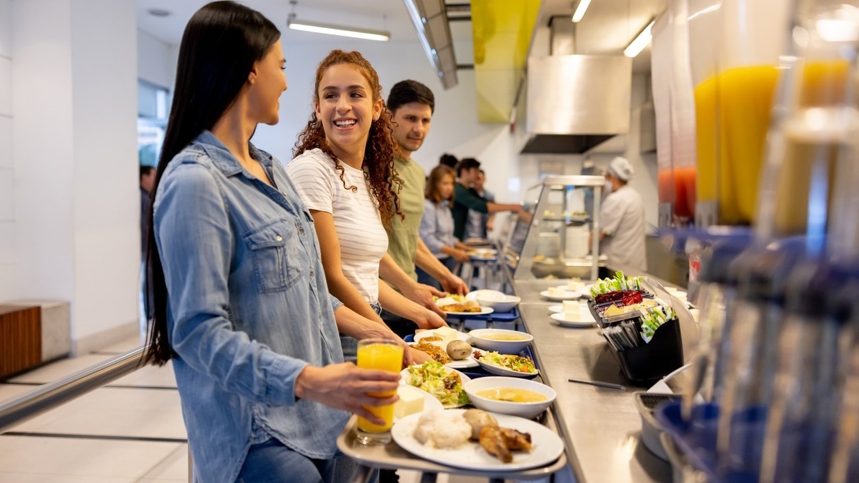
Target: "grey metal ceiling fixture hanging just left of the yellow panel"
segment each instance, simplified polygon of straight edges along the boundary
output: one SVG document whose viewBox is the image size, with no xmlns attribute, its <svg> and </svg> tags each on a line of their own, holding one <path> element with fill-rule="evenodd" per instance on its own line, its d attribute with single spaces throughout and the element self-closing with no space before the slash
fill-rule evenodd
<svg viewBox="0 0 859 483">
<path fill-rule="evenodd" d="M 453 88 L 457 82 L 454 41 L 450 35 L 444 0 L 403 0 L 417 30 L 417 39 L 430 58 L 442 86 Z"/>
</svg>

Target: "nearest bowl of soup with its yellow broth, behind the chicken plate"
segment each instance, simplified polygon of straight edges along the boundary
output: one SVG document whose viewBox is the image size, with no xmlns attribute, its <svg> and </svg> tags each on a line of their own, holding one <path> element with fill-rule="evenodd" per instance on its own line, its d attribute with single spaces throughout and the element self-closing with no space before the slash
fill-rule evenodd
<svg viewBox="0 0 859 483">
<path fill-rule="evenodd" d="M 520 377 L 478 377 L 462 389 L 476 408 L 529 420 L 545 411 L 557 396 L 544 383 Z"/>
</svg>

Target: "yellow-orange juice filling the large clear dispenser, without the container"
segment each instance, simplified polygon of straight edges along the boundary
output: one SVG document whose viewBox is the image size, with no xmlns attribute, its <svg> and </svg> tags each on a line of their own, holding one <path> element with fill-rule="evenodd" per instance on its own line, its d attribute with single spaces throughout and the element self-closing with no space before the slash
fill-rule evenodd
<svg viewBox="0 0 859 483">
<path fill-rule="evenodd" d="M 753 220 L 778 70 L 737 67 L 695 87 L 698 200 L 718 202 L 719 222 Z"/>
</svg>

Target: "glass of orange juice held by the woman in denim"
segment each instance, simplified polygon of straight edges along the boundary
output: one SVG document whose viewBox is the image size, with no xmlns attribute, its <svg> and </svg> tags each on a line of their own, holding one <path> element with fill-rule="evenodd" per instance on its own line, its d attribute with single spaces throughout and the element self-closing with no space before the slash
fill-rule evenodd
<svg viewBox="0 0 859 483">
<path fill-rule="evenodd" d="M 380 371 L 399 372 L 403 366 L 403 346 L 386 339 L 364 339 L 358 341 L 358 367 Z M 368 393 L 375 397 L 388 397 L 397 391 Z M 364 408 L 381 419 L 384 425 L 375 425 L 358 416 L 358 441 L 362 444 L 386 444 L 391 441 L 393 426 L 393 404 L 387 406 L 365 406 Z"/>
</svg>

